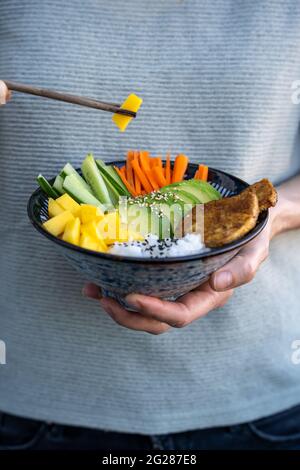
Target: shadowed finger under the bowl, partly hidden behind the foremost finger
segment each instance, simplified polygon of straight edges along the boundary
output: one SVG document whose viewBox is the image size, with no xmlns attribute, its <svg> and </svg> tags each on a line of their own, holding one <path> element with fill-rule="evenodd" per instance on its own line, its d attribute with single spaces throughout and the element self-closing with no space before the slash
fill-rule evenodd
<svg viewBox="0 0 300 470">
<path fill-rule="evenodd" d="M 118 323 L 131 330 L 145 331 L 154 335 L 165 333 L 170 329 L 169 325 L 152 318 L 145 318 L 140 313 L 129 312 L 113 299 L 104 297 L 100 300 L 104 310 L 111 316 L 111 318 Z"/>
</svg>

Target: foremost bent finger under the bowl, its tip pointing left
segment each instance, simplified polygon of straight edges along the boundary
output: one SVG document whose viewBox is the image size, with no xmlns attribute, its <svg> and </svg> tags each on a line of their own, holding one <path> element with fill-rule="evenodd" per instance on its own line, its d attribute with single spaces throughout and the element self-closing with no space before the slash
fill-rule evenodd
<svg viewBox="0 0 300 470">
<path fill-rule="evenodd" d="M 192 321 L 206 315 L 230 297 L 231 292 L 218 293 L 208 282 L 198 289 L 184 295 L 176 302 L 160 300 L 141 294 L 130 294 L 126 302 L 139 312 L 176 328 L 182 328 Z"/>
</svg>

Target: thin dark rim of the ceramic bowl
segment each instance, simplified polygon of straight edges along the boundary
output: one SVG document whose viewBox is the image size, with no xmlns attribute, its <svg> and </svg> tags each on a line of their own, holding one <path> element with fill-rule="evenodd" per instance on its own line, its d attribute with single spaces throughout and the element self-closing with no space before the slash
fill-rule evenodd
<svg viewBox="0 0 300 470">
<path fill-rule="evenodd" d="M 120 163 L 124 163 L 123 160 L 115 160 L 115 161 L 109 161 L 106 162 L 111 165 L 119 165 Z M 198 165 L 196 163 L 191 162 L 189 164 L 189 167 L 194 167 L 196 169 Z M 243 181 L 242 179 L 238 178 L 235 175 L 232 175 L 230 173 L 227 173 L 222 170 L 218 170 L 213 167 L 209 167 L 210 170 L 216 171 L 218 173 L 221 173 L 224 176 L 227 176 L 229 178 L 234 178 L 235 181 L 240 182 L 242 185 L 245 187 L 248 187 L 249 184 L 246 183 L 246 181 Z M 180 256 L 180 257 L 168 257 L 168 258 L 140 258 L 140 257 L 134 257 L 134 256 L 121 256 L 121 255 L 114 255 L 110 253 L 102 253 L 99 251 L 93 251 L 93 250 L 88 250 L 86 248 L 81 248 L 80 246 L 77 245 L 72 245 L 71 243 L 65 242 L 64 240 L 61 240 L 58 237 L 55 237 L 51 233 L 47 232 L 42 225 L 37 222 L 33 207 L 35 204 L 35 200 L 39 194 L 42 193 L 41 188 L 37 188 L 30 196 L 28 203 L 27 203 L 27 214 L 30 219 L 30 222 L 32 225 L 35 227 L 38 232 L 40 232 L 42 235 L 47 237 L 49 240 L 53 241 L 54 243 L 67 248 L 71 251 L 75 251 L 77 253 L 82 253 L 84 255 L 88 256 L 93 256 L 98 259 L 103 259 L 107 261 L 118 261 L 118 262 L 124 262 L 124 263 L 137 263 L 137 264 L 173 264 L 173 263 L 184 263 L 186 261 L 197 261 L 197 260 L 203 260 L 205 258 L 211 258 L 213 256 L 221 255 L 224 253 L 228 253 L 232 250 L 236 250 L 238 248 L 242 248 L 244 245 L 249 243 L 251 240 L 253 240 L 255 237 L 257 237 L 260 232 L 264 229 L 266 226 L 268 219 L 269 219 L 269 211 L 265 210 L 260 214 L 260 221 L 258 224 L 244 237 L 242 237 L 239 240 L 236 240 L 235 242 L 228 243 L 227 245 L 223 245 L 219 248 L 210 248 L 209 251 L 203 251 L 200 253 L 196 253 L 193 255 L 185 255 L 185 256 Z"/>
</svg>

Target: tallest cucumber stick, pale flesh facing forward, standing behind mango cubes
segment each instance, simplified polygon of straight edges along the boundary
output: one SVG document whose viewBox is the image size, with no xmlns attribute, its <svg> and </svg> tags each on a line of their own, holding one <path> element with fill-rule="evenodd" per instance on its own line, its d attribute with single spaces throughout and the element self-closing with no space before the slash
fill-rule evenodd
<svg viewBox="0 0 300 470">
<path fill-rule="evenodd" d="M 99 199 L 102 204 L 113 205 L 104 179 L 102 178 L 92 154 L 85 157 L 81 165 L 81 169 L 85 180 L 92 188 L 97 199 Z"/>
</svg>

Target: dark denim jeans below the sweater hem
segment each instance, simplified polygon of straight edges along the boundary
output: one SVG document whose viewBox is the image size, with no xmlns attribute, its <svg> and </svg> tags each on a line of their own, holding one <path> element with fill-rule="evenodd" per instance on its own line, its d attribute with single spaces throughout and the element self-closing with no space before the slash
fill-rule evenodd
<svg viewBox="0 0 300 470">
<path fill-rule="evenodd" d="M 0 450 L 300 450 L 300 405 L 234 426 L 145 436 L 64 426 L 0 412 Z"/>
</svg>

